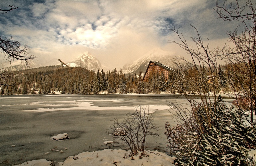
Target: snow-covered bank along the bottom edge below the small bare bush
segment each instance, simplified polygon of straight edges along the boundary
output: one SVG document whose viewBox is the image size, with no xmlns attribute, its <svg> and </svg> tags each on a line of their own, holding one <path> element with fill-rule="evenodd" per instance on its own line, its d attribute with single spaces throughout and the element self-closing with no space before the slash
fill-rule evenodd
<svg viewBox="0 0 256 166">
<path fill-rule="evenodd" d="M 129 156 L 128 152 L 121 149 L 104 149 L 94 152 L 83 152 L 75 156 L 68 157 L 64 162 L 51 162 L 45 159 L 32 160 L 20 164 L 19 166 L 71 166 L 71 165 L 95 165 L 95 166 L 113 166 L 113 165 L 144 165 L 144 166 L 174 166 L 176 157 L 168 156 L 158 151 L 146 151 L 146 157 L 140 155 Z"/>
</svg>

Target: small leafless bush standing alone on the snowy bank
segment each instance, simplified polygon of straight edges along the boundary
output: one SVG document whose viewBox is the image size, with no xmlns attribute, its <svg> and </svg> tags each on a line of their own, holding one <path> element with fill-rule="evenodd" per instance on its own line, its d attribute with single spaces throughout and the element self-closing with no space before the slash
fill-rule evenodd
<svg viewBox="0 0 256 166">
<path fill-rule="evenodd" d="M 134 112 L 127 113 L 127 118 L 122 122 L 118 119 L 113 120 L 107 133 L 111 134 L 115 140 L 125 143 L 132 156 L 138 155 L 138 151 L 143 156 L 146 137 L 148 135 L 159 136 L 158 127 L 155 126 L 153 120 L 153 114 L 149 113 L 148 107 L 138 106 Z"/>
</svg>

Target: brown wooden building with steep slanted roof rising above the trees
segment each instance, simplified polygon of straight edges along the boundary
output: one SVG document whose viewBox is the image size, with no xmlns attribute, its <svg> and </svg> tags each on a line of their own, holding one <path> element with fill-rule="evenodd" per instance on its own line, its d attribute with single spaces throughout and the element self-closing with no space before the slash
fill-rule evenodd
<svg viewBox="0 0 256 166">
<path fill-rule="evenodd" d="M 156 62 L 156 61 L 151 61 L 150 60 L 148 66 L 147 66 L 146 72 L 144 74 L 143 81 L 148 82 L 150 75 L 152 75 L 153 73 L 159 73 L 160 74 L 161 72 L 164 73 L 165 81 L 167 81 L 169 73 L 170 73 L 171 70 L 174 71 L 173 69 L 163 65 L 159 61 Z"/>
</svg>

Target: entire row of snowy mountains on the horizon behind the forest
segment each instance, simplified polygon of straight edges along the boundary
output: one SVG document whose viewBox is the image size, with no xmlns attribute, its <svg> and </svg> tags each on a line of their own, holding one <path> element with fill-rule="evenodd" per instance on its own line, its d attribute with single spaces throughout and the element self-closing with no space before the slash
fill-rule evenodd
<svg viewBox="0 0 256 166">
<path fill-rule="evenodd" d="M 153 48 L 152 50 L 148 51 L 144 55 L 142 55 L 140 58 L 136 59 L 132 63 L 125 64 L 124 67 L 122 68 L 123 73 L 125 74 L 131 74 L 131 73 L 139 73 L 139 70 L 142 72 L 145 72 L 149 61 L 160 61 L 160 63 L 170 67 L 170 68 L 177 68 L 177 65 L 174 63 L 174 59 L 178 58 L 183 58 L 175 52 L 171 51 L 165 51 L 159 47 Z M 51 60 L 53 62 L 53 60 Z M 55 61 L 55 59 L 54 59 Z M 56 59 L 57 62 L 57 59 Z M 179 62 L 182 62 L 179 60 Z M 184 61 L 185 62 L 185 61 Z M 54 62 L 55 63 L 55 62 Z M 59 62 L 58 62 L 59 63 Z M 183 63 L 183 62 L 182 62 Z M 70 60 L 69 62 L 66 63 L 70 67 L 75 67 L 75 66 L 80 66 L 87 68 L 89 70 L 104 70 L 108 71 L 109 69 L 102 65 L 100 60 L 98 60 L 95 56 L 93 56 L 90 52 L 86 51 L 83 54 L 80 54 L 73 60 Z M 183 63 L 184 64 L 184 63 Z M 10 65 L 10 64 L 9 64 Z M 41 67 L 42 65 L 37 64 L 35 62 L 30 63 L 30 68 L 36 68 L 36 67 Z M 24 65 L 22 65 L 21 62 L 15 62 L 12 63 L 12 65 L 6 67 L 6 69 L 11 70 L 11 71 L 18 71 L 18 70 L 24 70 L 26 69 Z"/>
</svg>

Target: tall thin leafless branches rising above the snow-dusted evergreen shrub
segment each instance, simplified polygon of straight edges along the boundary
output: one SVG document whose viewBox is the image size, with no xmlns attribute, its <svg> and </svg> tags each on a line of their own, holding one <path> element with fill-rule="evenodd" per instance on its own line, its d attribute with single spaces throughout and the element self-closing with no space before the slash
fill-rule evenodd
<svg viewBox="0 0 256 166">
<path fill-rule="evenodd" d="M 218 52 L 216 49 L 210 50 L 209 40 L 207 44 L 205 44 L 197 29 L 193 26 L 192 28 L 196 30 L 197 34 L 197 37 L 191 37 L 196 47 L 191 46 L 193 44 L 189 44 L 184 36 L 178 32 L 178 29 L 172 29 L 171 31 L 178 36 L 180 41 L 170 41 L 170 43 L 177 44 L 178 46 L 183 48 L 192 58 L 192 62 L 187 61 L 187 63 L 189 63 L 193 68 L 194 72 L 193 76 L 190 77 L 190 82 L 193 82 L 193 84 L 195 85 L 195 91 L 200 97 L 200 101 L 198 102 L 198 100 L 194 100 L 194 97 L 186 94 L 186 92 L 184 92 L 184 96 L 190 102 L 192 110 L 194 107 L 197 107 L 198 104 L 204 105 L 204 108 L 206 109 L 206 114 L 208 115 L 208 119 L 206 120 L 206 122 L 208 125 L 210 125 L 209 127 L 211 127 L 212 110 L 209 110 L 209 105 L 212 104 L 212 100 L 213 103 L 216 102 L 217 85 L 215 80 L 215 73 L 217 71 L 217 62 L 215 57 Z M 176 64 L 184 72 L 185 75 L 189 75 L 189 72 L 191 71 L 186 70 L 186 66 L 182 66 L 179 63 Z M 209 92 L 209 83 L 206 73 L 209 73 L 210 77 L 213 79 L 213 83 L 211 85 L 213 93 Z"/>
</svg>

